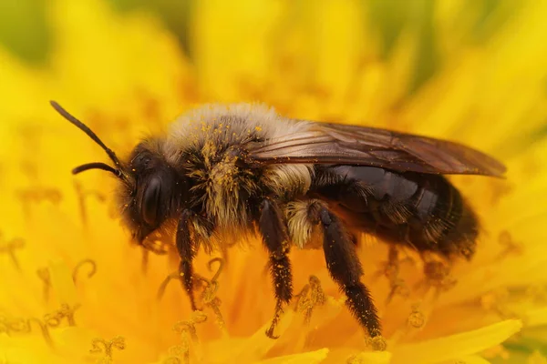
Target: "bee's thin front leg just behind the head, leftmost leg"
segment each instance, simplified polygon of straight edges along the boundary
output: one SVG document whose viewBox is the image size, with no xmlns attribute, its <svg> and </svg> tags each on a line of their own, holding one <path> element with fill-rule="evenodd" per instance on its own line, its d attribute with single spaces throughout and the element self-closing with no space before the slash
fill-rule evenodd
<svg viewBox="0 0 547 364">
<path fill-rule="evenodd" d="M 177 227 L 177 250 L 181 257 L 181 263 L 179 265 L 179 274 L 181 275 L 182 287 L 188 293 L 190 297 L 190 304 L 192 311 L 197 310 L 196 299 L 193 293 L 193 268 L 192 260 L 195 258 L 197 248 L 195 243 L 191 239 L 190 225 L 193 212 L 191 210 L 182 211 L 181 218 L 179 219 L 179 225 Z"/>
</svg>

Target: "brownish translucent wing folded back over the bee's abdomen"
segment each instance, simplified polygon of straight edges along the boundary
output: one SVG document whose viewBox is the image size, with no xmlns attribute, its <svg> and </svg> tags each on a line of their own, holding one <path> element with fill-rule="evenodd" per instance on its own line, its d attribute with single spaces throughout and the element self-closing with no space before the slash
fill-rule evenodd
<svg viewBox="0 0 547 364">
<path fill-rule="evenodd" d="M 251 162 L 383 167 L 432 174 L 503 177 L 496 159 L 461 144 L 365 126 L 310 122 L 303 132 L 247 146 Z"/>
</svg>

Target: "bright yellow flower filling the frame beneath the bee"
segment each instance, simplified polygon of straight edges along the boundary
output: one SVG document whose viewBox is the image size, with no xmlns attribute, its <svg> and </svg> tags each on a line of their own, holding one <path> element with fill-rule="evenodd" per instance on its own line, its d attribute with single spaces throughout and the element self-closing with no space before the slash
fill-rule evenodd
<svg viewBox="0 0 547 364">
<path fill-rule="evenodd" d="M 547 3 L 190 4 L 187 53 L 155 17 L 102 0 L 48 2 L 46 66 L 0 49 L 0 363 L 545 362 Z M 270 339 L 262 244 L 228 237 L 248 244 L 201 250 L 192 311 L 176 249 L 129 243 L 117 181 L 70 176 L 106 158 L 50 99 L 124 158 L 194 106 L 259 101 L 288 117 L 459 141 L 508 174 L 450 177 L 480 217 L 469 262 L 424 274 L 411 248 L 395 264 L 382 241 L 359 238 L 382 337 L 366 338 L 323 253 L 293 248 L 295 297 Z"/>
</svg>

